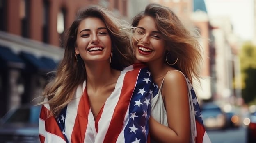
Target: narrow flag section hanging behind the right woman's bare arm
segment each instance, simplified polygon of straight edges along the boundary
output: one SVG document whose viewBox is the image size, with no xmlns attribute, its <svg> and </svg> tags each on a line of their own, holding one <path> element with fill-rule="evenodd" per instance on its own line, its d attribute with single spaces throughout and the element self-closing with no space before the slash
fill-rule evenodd
<svg viewBox="0 0 256 143">
<path fill-rule="evenodd" d="M 203 125 L 203 116 L 201 114 L 201 109 L 197 101 L 196 93 L 188 78 L 186 78 L 186 80 L 190 93 L 190 116 L 194 117 L 191 119 L 191 133 L 192 138 L 194 138 L 195 140 L 195 142 L 193 143 L 211 143 L 210 138 L 206 133 L 205 127 Z"/>
</svg>

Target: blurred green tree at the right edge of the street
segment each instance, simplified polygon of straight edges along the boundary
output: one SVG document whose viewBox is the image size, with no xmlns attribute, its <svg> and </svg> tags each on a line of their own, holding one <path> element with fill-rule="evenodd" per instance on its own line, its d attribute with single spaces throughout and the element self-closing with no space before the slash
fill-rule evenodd
<svg viewBox="0 0 256 143">
<path fill-rule="evenodd" d="M 240 52 L 242 98 L 245 103 L 256 101 L 256 46 L 246 42 Z"/>
</svg>

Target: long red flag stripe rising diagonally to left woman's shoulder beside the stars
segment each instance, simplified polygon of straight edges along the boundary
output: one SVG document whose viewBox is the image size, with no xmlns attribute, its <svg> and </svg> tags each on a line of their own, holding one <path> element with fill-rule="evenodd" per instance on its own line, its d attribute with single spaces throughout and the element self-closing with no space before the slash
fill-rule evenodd
<svg viewBox="0 0 256 143">
<path fill-rule="evenodd" d="M 124 117 L 126 115 L 128 105 L 130 104 L 130 98 L 133 94 L 138 74 L 139 69 L 126 73 L 123 80 L 121 96 L 117 102 L 117 106 L 114 109 L 112 120 L 110 121 L 110 126 L 107 130 L 103 143 L 115 143 L 117 141 L 119 133 L 123 127 Z"/>
</svg>

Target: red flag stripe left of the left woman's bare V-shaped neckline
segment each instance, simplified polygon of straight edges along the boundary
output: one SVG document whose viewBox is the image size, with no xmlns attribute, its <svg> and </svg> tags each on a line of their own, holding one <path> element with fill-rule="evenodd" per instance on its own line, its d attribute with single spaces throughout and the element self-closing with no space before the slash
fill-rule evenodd
<svg viewBox="0 0 256 143">
<path fill-rule="evenodd" d="M 78 113 L 75 118 L 75 125 L 71 135 L 72 143 L 83 143 L 85 139 L 85 132 L 88 124 L 88 114 L 90 110 L 89 99 L 87 96 L 87 90 L 84 89 L 83 96 L 78 104 Z"/>
</svg>

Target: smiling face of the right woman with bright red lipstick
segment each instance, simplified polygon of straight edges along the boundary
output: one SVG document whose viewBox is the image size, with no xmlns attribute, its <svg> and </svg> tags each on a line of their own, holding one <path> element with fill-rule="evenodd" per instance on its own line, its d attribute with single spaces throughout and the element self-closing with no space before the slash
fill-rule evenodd
<svg viewBox="0 0 256 143">
<path fill-rule="evenodd" d="M 134 42 L 137 60 L 145 63 L 157 60 L 163 62 L 165 41 L 151 16 L 145 16 L 139 20 L 134 37 L 138 40 Z"/>
</svg>

